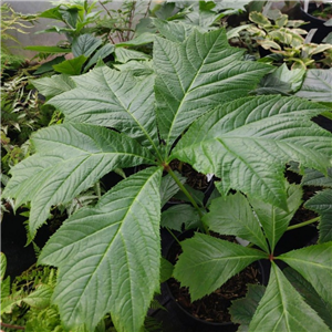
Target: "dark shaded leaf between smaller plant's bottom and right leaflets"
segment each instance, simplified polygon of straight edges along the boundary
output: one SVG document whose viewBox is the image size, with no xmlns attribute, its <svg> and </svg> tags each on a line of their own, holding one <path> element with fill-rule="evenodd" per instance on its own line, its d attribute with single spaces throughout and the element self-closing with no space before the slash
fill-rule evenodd
<svg viewBox="0 0 332 332">
<path fill-rule="evenodd" d="M 304 301 L 320 315 L 332 329 L 332 304 L 324 302 L 313 287 L 295 270 L 287 268 L 282 270 L 293 288 L 303 297 Z"/>
</svg>

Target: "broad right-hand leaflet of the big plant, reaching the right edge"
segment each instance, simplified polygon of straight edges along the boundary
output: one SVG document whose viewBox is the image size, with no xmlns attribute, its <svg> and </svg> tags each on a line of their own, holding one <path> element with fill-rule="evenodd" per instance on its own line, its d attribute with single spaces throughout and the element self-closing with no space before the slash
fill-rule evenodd
<svg viewBox="0 0 332 332">
<path fill-rule="evenodd" d="M 310 121 L 325 110 L 297 97 L 240 98 L 196 121 L 170 159 L 220 177 L 222 194 L 232 188 L 287 209 L 284 165 L 322 172 L 331 165 L 332 135 Z"/>
</svg>

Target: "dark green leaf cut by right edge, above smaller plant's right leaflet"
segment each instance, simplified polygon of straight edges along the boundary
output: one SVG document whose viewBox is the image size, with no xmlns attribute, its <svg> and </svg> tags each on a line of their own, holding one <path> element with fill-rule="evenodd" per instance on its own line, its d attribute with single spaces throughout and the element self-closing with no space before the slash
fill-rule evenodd
<svg viewBox="0 0 332 332">
<path fill-rule="evenodd" d="M 304 207 L 321 216 L 319 243 L 332 241 L 332 189 L 318 193 Z"/>
</svg>

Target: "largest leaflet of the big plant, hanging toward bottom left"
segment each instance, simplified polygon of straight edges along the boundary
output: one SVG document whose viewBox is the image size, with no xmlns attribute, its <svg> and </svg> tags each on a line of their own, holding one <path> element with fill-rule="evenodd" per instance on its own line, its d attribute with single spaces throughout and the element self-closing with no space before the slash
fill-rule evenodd
<svg viewBox="0 0 332 332">
<path fill-rule="evenodd" d="M 68 328 L 89 331 L 111 312 L 116 331 L 138 332 L 159 288 L 160 168 L 142 170 L 79 210 L 43 248 L 60 268 L 54 302 Z"/>
</svg>

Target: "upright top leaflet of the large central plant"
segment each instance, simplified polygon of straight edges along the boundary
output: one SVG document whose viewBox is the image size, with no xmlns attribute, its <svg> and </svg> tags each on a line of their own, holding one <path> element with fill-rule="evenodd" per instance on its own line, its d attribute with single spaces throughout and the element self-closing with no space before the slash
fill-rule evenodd
<svg viewBox="0 0 332 332">
<path fill-rule="evenodd" d="M 155 93 L 160 137 L 170 148 L 198 116 L 225 101 L 255 89 L 270 66 L 241 61 L 243 51 L 230 48 L 226 32 L 197 30 L 184 43 L 156 38 Z"/>
</svg>

